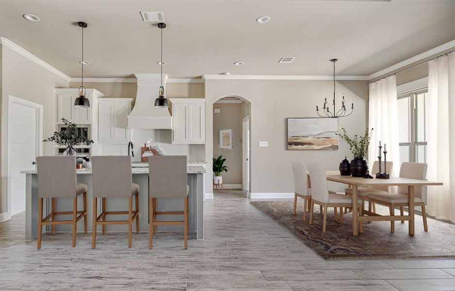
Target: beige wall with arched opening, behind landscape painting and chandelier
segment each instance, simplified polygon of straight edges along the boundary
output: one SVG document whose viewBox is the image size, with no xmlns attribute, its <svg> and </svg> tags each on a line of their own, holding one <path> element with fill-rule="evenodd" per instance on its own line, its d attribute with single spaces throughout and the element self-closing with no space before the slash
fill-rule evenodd
<svg viewBox="0 0 455 291">
<path fill-rule="evenodd" d="M 206 80 L 207 161 L 213 156 L 211 104 L 221 97 L 234 95 L 251 103 L 251 192 L 293 193 L 293 161 L 324 163 L 327 170 L 337 170 L 344 156 L 351 156 L 343 141 L 337 151 L 286 150 L 286 118 L 316 117 L 315 103 L 321 106 L 324 96 L 330 96 L 332 90 L 331 81 Z M 362 134 L 367 122 L 368 82 L 337 82 L 337 96 L 342 93 L 348 101 L 354 99 L 356 109 L 352 115 L 339 119 L 339 129 Z M 259 147 L 260 141 L 268 141 L 268 147 Z M 206 189 L 211 191 L 210 178 L 206 179 Z"/>
</svg>

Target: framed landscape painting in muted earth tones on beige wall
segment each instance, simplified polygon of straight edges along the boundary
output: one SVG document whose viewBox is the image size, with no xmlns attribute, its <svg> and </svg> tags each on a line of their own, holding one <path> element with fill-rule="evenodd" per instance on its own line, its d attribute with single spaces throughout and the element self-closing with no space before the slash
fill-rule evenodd
<svg viewBox="0 0 455 291">
<path fill-rule="evenodd" d="M 338 150 L 338 118 L 287 118 L 288 150 Z"/>
</svg>

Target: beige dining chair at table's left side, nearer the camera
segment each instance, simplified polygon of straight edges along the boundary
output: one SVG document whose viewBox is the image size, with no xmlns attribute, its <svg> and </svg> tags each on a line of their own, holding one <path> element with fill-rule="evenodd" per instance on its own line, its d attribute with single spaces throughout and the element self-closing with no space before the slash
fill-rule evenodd
<svg viewBox="0 0 455 291">
<path fill-rule="evenodd" d="M 344 194 L 331 193 L 328 191 L 327 178 L 325 176 L 325 166 L 323 164 L 310 164 L 309 177 L 311 179 L 311 206 L 309 212 L 309 224 L 313 223 L 314 203 L 324 207 L 324 220 L 322 232 L 325 232 L 327 225 L 328 207 L 347 207 L 352 208 L 352 197 Z M 360 199 L 359 206 L 360 206 Z M 360 207 L 359 207 L 360 209 Z M 343 223 L 343 212 L 340 212 L 340 223 Z"/>
</svg>

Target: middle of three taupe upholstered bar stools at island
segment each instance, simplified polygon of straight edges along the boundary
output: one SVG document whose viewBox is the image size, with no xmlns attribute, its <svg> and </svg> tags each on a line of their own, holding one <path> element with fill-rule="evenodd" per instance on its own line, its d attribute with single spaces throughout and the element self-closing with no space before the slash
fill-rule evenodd
<svg viewBox="0 0 455 291">
<path fill-rule="evenodd" d="M 132 221 L 136 220 L 136 233 L 139 233 L 139 185 L 132 182 L 131 158 L 128 156 L 95 156 L 92 157 L 93 179 L 93 226 L 92 249 L 96 247 L 97 226 L 128 225 L 128 247 L 132 241 Z M 133 211 L 133 196 L 136 210 Z M 106 198 L 128 197 L 128 211 L 106 211 Z M 101 198 L 101 214 L 97 216 L 97 198 Z M 107 215 L 128 214 L 128 220 L 106 221 Z"/>
</svg>

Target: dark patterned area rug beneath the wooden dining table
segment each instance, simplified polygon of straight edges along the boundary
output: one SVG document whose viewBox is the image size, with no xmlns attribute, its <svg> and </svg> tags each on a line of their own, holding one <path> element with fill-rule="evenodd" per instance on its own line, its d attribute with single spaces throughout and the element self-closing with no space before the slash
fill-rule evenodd
<svg viewBox="0 0 455 291">
<path fill-rule="evenodd" d="M 405 221 L 395 222 L 395 232 L 390 233 L 390 222 L 365 223 L 364 232 L 352 235 L 352 214 L 343 216 L 340 225 L 334 220 L 333 208 L 327 212 L 326 232 L 322 232 L 323 217 L 319 206 L 314 206 L 313 224 L 303 221 L 303 201 L 299 199 L 297 214 L 292 215 L 292 200 L 251 201 L 253 205 L 286 227 L 324 259 L 365 258 L 427 258 L 455 257 L 455 225 L 427 217 L 428 232 L 423 231 L 422 216 L 415 216 L 415 235 L 408 235 Z M 338 210 L 340 211 L 340 210 Z M 389 215 L 389 209 L 376 206 L 380 214 Z M 399 210 L 395 212 L 399 215 Z M 406 215 L 406 212 L 405 212 Z"/>
</svg>

